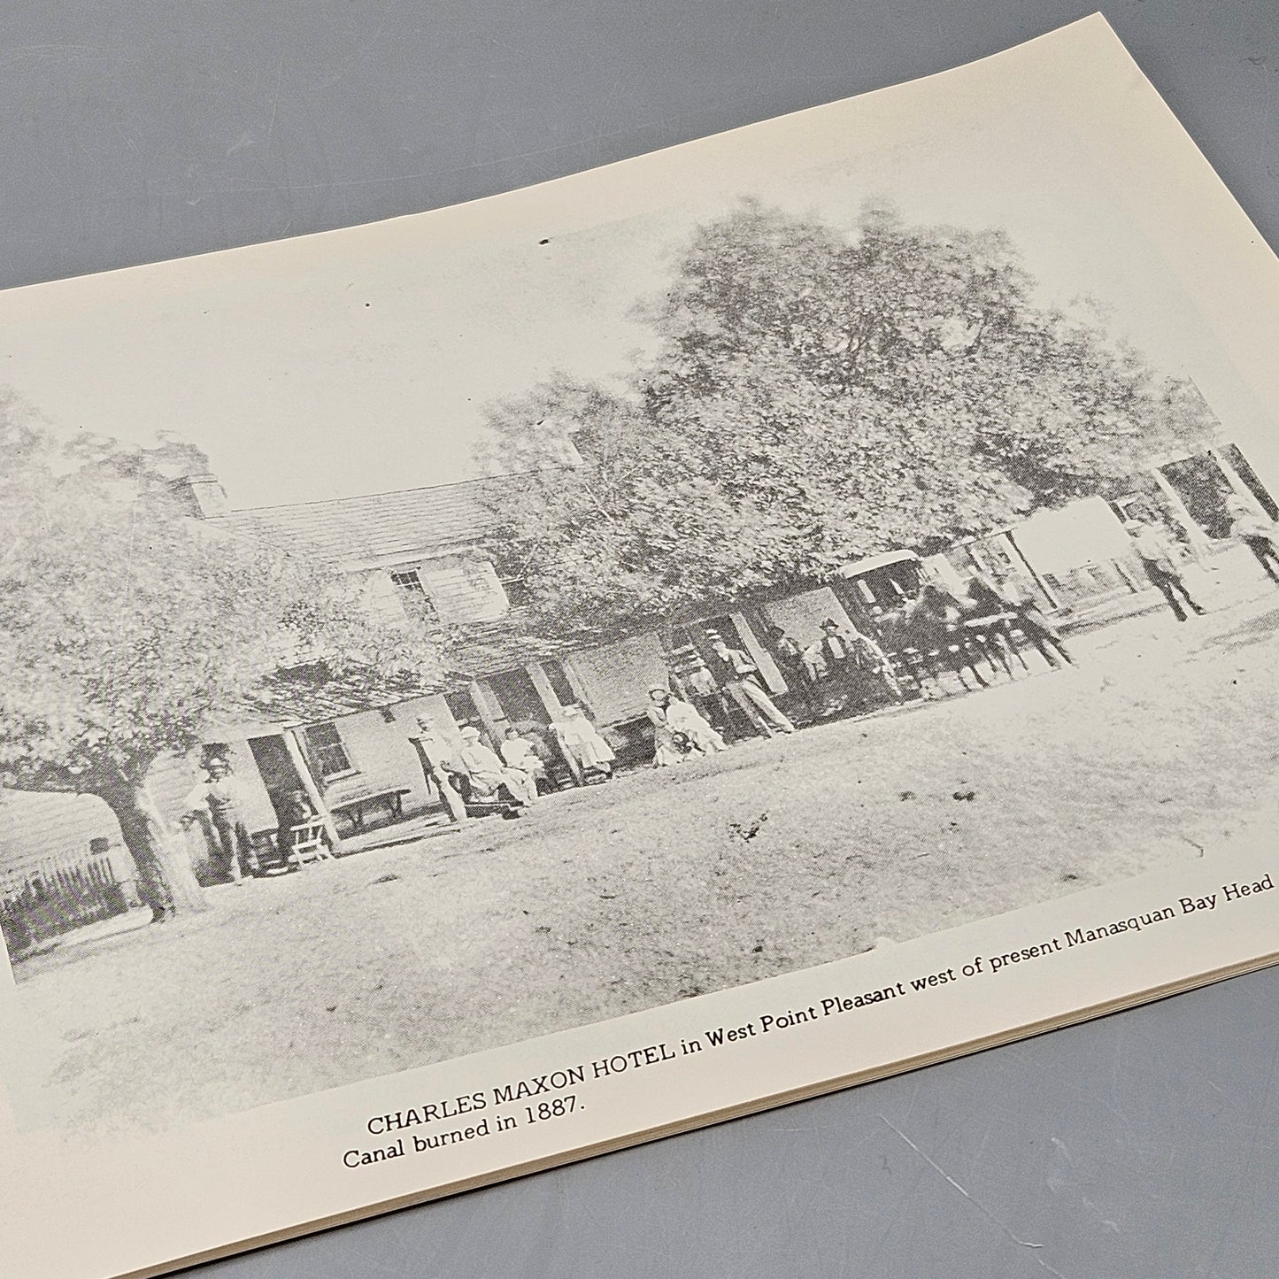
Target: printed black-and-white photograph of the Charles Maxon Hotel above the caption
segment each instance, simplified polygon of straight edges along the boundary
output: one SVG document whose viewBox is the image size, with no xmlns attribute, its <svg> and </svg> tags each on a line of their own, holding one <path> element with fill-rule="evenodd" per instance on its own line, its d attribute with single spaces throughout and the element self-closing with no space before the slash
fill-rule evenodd
<svg viewBox="0 0 1279 1279">
<path fill-rule="evenodd" d="M 995 97 L 0 295 L 19 1129 L 1273 828 L 1275 405 L 1076 122 Z"/>
</svg>

